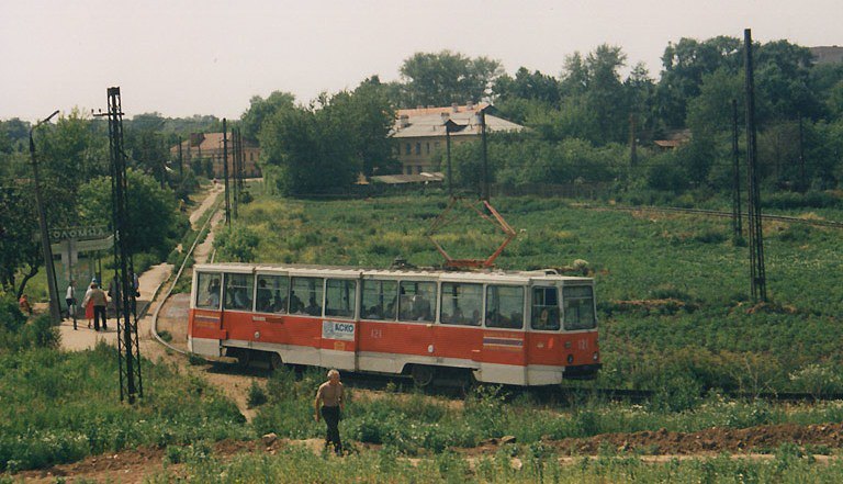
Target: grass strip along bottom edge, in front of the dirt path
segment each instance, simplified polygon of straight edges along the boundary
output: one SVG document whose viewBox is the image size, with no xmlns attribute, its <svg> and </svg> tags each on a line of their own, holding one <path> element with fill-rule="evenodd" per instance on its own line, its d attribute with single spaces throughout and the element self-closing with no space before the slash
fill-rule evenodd
<svg viewBox="0 0 843 484">
<path fill-rule="evenodd" d="M 671 459 L 649 463 L 642 458 L 606 454 L 597 459 L 582 458 L 560 462 L 542 446 L 518 452 L 515 461 L 510 449 L 473 462 L 462 455 L 445 452 L 432 459 L 409 461 L 386 449 L 342 459 L 314 455 L 308 449 L 291 446 L 276 455 L 240 455 L 222 460 L 207 453 L 187 452 L 184 469 L 166 469 L 150 481 L 175 480 L 196 483 L 227 482 L 390 482 L 390 483 L 607 483 L 607 482 L 681 482 L 734 483 L 782 482 L 827 483 L 843 477 L 843 464 L 834 460 L 819 463 L 793 449 L 783 447 L 775 459 Z"/>
</svg>

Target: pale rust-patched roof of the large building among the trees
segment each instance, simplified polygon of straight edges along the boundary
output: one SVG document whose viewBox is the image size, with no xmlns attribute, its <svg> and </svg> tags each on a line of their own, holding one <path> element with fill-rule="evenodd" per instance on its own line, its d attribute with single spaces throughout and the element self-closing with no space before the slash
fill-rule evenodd
<svg viewBox="0 0 843 484">
<path fill-rule="evenodd" d="M 423 110 L 401 110 L 398 119 L 393 127 L 392 137 L 394 138 L 416 138 L 426 136 L 445 136 L 446 123 L 450 120 L 452 123 L 462 126 L 460 131 L 451 131 L 451 136 L 479 135 L 481 131 L 480 111 L 487 108 L 488 104 L 480 104 L 479 109 L 459 109 L 454 108 L 427 108 Z M 417 114 L 406 114 L 406 112 L 418 111 Z M 424 112 L 422 112 L 424 111 Z M 406 117 L 403 117 L 406 116 Z M 524 130 L 520 124 L 504 120 L 486 113 L 486 130 L 492 132 L 517 132 Z"/>
</svg>

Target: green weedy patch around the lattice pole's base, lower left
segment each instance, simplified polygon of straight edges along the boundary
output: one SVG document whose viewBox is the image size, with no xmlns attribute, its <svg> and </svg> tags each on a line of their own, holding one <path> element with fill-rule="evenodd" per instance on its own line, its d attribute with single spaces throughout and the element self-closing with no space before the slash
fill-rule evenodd
<svg viewBox="0 0 843 484">
<path fill-rule="evenodd" d="M 116 349 L 63 352 L 47 316 L 0 304 L 0 472 L 137 446 L 251 437 L 237 407 L 202 380 L 144 360 L 145 397 L 119 404 Z"/>
</svg>

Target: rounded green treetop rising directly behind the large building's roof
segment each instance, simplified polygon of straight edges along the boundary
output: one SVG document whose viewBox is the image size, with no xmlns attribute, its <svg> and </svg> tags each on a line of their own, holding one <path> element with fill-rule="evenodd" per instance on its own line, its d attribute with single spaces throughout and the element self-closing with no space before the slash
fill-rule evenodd
<svg viewBox="0 0 843 484">
<path fill-rule="evenodd" d="M 493 82 L 503 74 L 498 60 L 450 50 L 416 53 L 400 70 L 406 86 L 404 108 L 480 102 L 491 95 Z"/>
</svg>

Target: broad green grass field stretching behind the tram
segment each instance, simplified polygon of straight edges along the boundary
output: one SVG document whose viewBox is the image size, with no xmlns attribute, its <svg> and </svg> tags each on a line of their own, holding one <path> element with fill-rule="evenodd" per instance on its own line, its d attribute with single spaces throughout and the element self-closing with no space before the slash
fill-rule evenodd
<svg viewBox="0 0 843 484">
<path fill-rule="evenodd" d="M 389 267 L 397 256 L 441 263 L 425 233 L 441 194 L 301 201 L 260 195 L 240 209 L 243 240 L 217 260 Z M 494 200 L 519 232 L 505 269 L 588 261 L 597 283 L 605 369 L 596 384 L 690 394 L 706 389 L 843 391 L 843 237 L 766 223 L 771 303 L 749 302 L 749 250 L 729 220 L 587 210 L 563 200 Z M 806 217 L 817 212 L 788 213 Z M 485 258 L 503 239 L 470 211 L 437 235 L 452 257 Z M 822 209 L 822 216 L 843 213 Z M 251 241 L 249 241 L 251 240 Z M 689 390 L 688 390 L 689 389 Z M 693 404 L 693 398 L 690 402 Z M 686 404 L 679 404 L 682 407 Z"/>
</svg>

